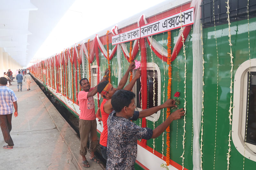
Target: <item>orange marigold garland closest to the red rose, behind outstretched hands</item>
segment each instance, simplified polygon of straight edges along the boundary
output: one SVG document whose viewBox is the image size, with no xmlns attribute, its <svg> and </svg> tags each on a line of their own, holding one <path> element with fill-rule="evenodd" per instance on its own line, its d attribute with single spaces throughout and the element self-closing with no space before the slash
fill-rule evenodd
<svg viewBox="0 0 256 170">
<path fill-rule="evenodd" d="M 172 86 L 172 59 L 171 59 L 171 53 L 172 53 L 172 47 L 171 47 L 171 31 L 168 31 L 168 43 L 167 43 L 167 52 L 168 52 L 168 59 L 167 59 L 167 64 L 169 65 L 168 68 L 168 87 L 167 87 L 167 99 L 171 99 L 171 86 Z M 166 111 L 166 119 L 170 115 L 170 107 L 167 108 Z M 170 165 L 170 125 L 166 129 L 166 165 Z"/>
</svg>

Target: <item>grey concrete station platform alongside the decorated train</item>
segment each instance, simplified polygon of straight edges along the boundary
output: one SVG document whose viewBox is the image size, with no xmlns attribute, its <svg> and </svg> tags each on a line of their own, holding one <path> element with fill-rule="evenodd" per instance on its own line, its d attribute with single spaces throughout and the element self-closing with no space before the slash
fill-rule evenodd
<svg viewBox="0 0 256 170">
<path fill-rule="evenodd" d="M 20 92 L 16 79 L 9 86 L 18 98 L 18 117 L 12 115 L 13 149 L 3 148 L 6 143 L 0 131 L 0 169 L 84 169 L 76 132 L 33 79 L 29 91 L 26 82 L 22 84 Z M 102 164 L 91 161 L 89 155 L 88 152 L 86 159 L 90 168 L 86 169 L 104 169 Z"/>
</svg>

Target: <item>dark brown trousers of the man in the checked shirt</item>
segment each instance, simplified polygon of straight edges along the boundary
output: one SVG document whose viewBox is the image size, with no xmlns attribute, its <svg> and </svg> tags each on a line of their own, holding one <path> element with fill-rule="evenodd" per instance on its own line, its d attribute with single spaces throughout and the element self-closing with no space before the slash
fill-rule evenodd
<svg viewBox="0 0 256 170">
<path fill-rule="evenodd" d="M 8 146 L 13 146 L 14 144 L 10 135 L 12 130 L 12 114 L 0 115 L 0 126 L 4 136 L 4 142 L 6 142 Z"/>
</svg>

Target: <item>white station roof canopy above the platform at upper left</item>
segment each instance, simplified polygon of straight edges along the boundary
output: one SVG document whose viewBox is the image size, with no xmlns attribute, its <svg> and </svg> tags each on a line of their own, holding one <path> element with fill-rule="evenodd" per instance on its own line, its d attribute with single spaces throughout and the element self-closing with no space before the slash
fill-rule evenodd
<svg viewBox="0 0 256 170">
<path fill-rule="evenodd" d="M 0 48 L 26 67 L 75 0 L 0 0 Z"/>
</svg>

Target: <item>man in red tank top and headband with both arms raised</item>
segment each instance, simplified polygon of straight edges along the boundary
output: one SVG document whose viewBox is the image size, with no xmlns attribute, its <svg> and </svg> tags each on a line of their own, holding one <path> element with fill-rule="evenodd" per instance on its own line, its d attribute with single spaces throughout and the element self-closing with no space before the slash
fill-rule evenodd
<svg viewBox="0 0 256 170">
<path fill-rule="evenodd" d="M 129 77 L 129 72 L 135 68 L 135 63 L 132 62 L 127 69 L 127 71 L 124 74 L 124 77 L 120 80 L 118 87 L 114 88 L 113 85 L 111 85 L 108 81 L 104 81 L 102 83 L 99 83 L 97 86 L 98 92 L 103 97 L 103 101 L 100 104 L 100 112 L 101 112 L 101 118 L 103 123 L 103 131 L 100 135 L 100 150 L 102 153 L 102 157 L 104 159 L 107 159 L 107 140 L 108 140 L 108 115 L 113 111 L 112 105 L 111 105 L 111 98 L 113 94 L 120 89 L 123 89 L 124 85 L 127 82 L 127 79 Z M 132 90 L 133 85 L 137 81 L 137 79 L 140 78 L 140 68 L 136 71 L 136 74 L 132 81 L 124 88 L 124 90 Z"/>
</svg>

